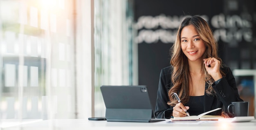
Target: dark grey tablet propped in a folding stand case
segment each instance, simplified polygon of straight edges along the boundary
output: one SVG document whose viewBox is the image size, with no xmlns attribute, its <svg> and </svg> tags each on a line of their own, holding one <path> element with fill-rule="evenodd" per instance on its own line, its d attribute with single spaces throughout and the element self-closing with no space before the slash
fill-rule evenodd
<svg viewBox="0 0 256 130">
<path fill-rule="evenodd" d="M 107 121 L 155 122 L 146 86 L 101 86 Z"/>
</svg>

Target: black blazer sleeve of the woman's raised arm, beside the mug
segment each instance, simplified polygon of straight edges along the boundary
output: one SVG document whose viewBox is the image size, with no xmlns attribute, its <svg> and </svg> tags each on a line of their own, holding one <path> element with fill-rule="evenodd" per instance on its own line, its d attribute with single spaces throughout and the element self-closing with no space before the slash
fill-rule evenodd
<svg viewBox="0 0 256 130">
<path fill-rule="evenodd" d="M 225 77 L 222 77 L 218 84 L 213 84 L 213 89 L 216 92 L 217 99 L 219 99 L 225 107 L 225 112 L 227 113 L 227 106 L 231 104 L 231 101 L 243 101 L 238 94 L 238 89 L 236 87 L 236 80 L 232 71 L 229 67 L 223 68 L 226 73 Z M 231 116 L 229 113 L 227 113 Z"/>
</svg>

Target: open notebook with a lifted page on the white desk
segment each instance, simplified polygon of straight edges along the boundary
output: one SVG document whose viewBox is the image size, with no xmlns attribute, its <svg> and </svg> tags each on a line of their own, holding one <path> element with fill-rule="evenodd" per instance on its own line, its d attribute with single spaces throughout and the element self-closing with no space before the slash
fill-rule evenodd
<svg viewBox="0 0 256 130">
<path fill-rule="evenodd" d="M 171 120 L 218 120 L 220 118 L 224 118 L 219 115 L 207 115 L 208 113 L 214 112 L 216 110 L 220 110 L 221 108 L 216 108 L 213 110 L 210 110 L 208 112 L 204 112 L 197 116 L 186 116 L 186 117 L 173 117 Z"/>
</svg>

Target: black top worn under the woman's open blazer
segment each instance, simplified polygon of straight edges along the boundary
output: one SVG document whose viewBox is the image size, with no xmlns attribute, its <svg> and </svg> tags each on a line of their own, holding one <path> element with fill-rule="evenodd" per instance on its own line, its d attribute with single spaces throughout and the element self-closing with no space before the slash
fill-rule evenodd
<svg viewBox="0 0 256 130">
<path fill-rule="evenodd" d="M 202 96 L 190 96 L 189 103 L 186 104 L 189 106 L 189 115 L 200 115 L 204 113 L 204 95 Z"/>
</svg>

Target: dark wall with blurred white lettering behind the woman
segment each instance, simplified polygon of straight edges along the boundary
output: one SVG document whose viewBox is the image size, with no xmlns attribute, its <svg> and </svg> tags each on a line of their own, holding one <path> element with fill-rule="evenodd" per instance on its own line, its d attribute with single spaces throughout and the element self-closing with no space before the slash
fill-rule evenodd
<svg viewBox="0 0 256 130">
<path fill-rule="evenodd" d="M 254 0 L 135 0 L 134 4 L 139 85 L 148 86 L 153 107 L 160 71 L 169 66 L 169 49 L 186 15 L 200 15 L 209 23 L 227 66 L 256 69 Z"/>
</svg>

